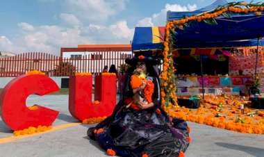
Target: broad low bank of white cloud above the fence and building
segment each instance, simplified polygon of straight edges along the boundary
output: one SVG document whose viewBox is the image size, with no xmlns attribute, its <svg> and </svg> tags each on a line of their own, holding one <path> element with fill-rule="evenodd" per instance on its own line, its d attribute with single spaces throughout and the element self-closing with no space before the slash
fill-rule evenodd
<svg viewBox="0 0 264 157">
<path fill-rule="evenodd" d="M 32 26 L 22 22 L 17 38 L 9 40 L 0 36 L 0 49 L 13 53 L 46 52 L 60 55 L 61 47 L 77 47 L 78 44 L 129 44 L 133 38 L 133 28 L 126 21 L 109 26 L 90 24 L 89 26 Z M 15 43 L 15 44 L 13 44 Z"/>
</svg>

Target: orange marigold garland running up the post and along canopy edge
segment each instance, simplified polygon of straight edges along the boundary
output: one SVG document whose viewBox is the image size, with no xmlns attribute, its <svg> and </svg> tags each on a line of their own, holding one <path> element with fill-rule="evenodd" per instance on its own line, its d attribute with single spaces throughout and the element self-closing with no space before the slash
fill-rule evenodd
<svg viewBox="0 0 264 157">
<path fill-rule="evenodd" d="M 238 6 L 246 6 L 247 8 L 240 8 Z M 176 81 L 174 77 L 174 69 L 173 60 L 172 60 L 172 48 L 173 41 L 170 40 L 170 31 L 174 31 L 174 29 L 179 28 L 183 29 L 183 26 L 186 22 L 197 20 L 197 22 L 201 22 L 204 19 L 212 19 L 226 13 L 227 11 L 233 13 L 249 13 L 255 12 L 256 15 L 261 15 L 261 12 L 264 10 L 263 5 L 258 4 L 247 4 L 245 2 L 238 3 L 229 3 L 229 6 L 222 6 L 220 8 L 216 8 L 210 13 L 203 13 L 202 15 L 185 17 L 184 19 L 174 20 L 172 22 L 167 22 L 165 26 L 165 41 L 164 41 L 164 63 L 163 63 L 163 74 L 160 75 L 161 82 L 161 96 L 162 96 L 162 104 L 164 106 L 170 105 L 170 99 L 173 100 L 175 106 L 178 106 L 176 102 Z"/>
</svg>

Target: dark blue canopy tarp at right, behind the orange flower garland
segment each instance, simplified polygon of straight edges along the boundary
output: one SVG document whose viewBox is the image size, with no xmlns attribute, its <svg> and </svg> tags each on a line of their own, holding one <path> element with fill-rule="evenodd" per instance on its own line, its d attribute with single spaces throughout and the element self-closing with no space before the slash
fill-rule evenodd
<svg viewBox="0 0 264 157">
<path fill-rule="evenodd" d="M 225 0 L 218 0 L 210 6 L 193 12 L 167 12 L 167 20 L 182 19 L 183 16 L 191 17 L 206 11 L 214 10 L 217 6 L 226 4 Z M 240 15 L 233 14 L 232 18 L 216 17 L 217 25 L 209 25 L 205 22 L 195 22 L 184 30 L 177 29 L 176 47 L 248 47 L 256 46 L 256 42 L 248 40 L 264 36 L 264 16 L 256 16 L 254 13 Z M 234 41 L 236 40 L 236 41 Z M 238 41 L 248 40 L 248 41 Z"/>
</svg>

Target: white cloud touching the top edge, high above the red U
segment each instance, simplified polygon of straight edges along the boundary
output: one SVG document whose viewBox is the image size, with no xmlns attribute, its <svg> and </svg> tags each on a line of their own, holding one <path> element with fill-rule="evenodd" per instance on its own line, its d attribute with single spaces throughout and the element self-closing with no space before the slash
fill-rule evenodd
<svg viewBox="0 0 264 157">
<path fill-rule="evenodd" d="M 116 15 L 125 9 L 126 0 L 65 0 L 65 10 L 79 19 L 90 22 L 104 22 L 109 16 Z"/>
</svg>

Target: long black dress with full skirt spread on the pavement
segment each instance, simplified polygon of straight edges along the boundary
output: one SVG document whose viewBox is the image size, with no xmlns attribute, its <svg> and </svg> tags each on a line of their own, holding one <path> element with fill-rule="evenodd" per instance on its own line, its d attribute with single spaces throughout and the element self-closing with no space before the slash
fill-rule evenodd
<svg viewBox="0 0 264 157">
<path fill-rule="evenodd" d="M 152 94 L 154 107 L 145 110 L 125 108 L 122 99 L 112 115 L 88 129 L 88 136 L 104 149 L 113 149 L 117 156 L 179 156 L 179 152 L 185 152 L 189 145 L 188 126 L 181 119 L 170 120 L 160 108 L 158 77 L 148 76 L 147 79 L 155 85 Z M 127 87 L 124 95 L 131 97 L 131 87 Z M 104 131 L 94 133 L 94 129 Z"/>
</svg>

